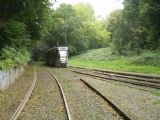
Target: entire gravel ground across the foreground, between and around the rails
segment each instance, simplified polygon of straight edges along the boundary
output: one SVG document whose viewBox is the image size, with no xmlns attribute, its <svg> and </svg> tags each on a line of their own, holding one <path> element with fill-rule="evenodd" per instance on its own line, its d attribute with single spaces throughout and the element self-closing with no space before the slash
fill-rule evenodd
<svg viewBox="0 0 160 120">
<path fill-rule="evenodd" d="M 118 82 L 71 72 L 70 68 L 48 68 L 60 80 L 73 120 L 121 120 L 122 118 L 96 93 L 80 81 L 94 86 L 132 120 L 160 119 L 160 91 L 144 91 Z M 85 71 L 85 70 L 83 70 Z M 19 120 L 66 120 L 64 104 L 54 79 L 37 67 L 38 80 Z M 0 91 L 0 120 L 11 118 L 33 81 L 33 67 L 9 89 Z"/>
</svg>

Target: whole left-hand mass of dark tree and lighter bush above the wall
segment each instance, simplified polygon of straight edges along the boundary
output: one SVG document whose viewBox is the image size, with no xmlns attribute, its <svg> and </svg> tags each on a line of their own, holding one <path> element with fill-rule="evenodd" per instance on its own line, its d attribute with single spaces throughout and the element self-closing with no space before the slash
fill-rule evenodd
<svg viewBox="0 0 160 120">
<path fill-rule="evenodd" d="M 27 52 L 48 35 L 49 0 L 0 0 L 0 68 L 26 63 Z M 24 48 L 24 49 L 22 49 Z"/>
</svg>

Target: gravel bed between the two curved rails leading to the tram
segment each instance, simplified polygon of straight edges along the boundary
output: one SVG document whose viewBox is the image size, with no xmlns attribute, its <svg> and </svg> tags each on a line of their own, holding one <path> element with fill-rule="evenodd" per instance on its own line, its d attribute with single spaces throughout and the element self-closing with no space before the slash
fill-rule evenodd
<svg viewBox="0 0 160 120">
<path fill-rule="evenodd" d="M 37 67 L 37 84 L 19 120 L 66 120 L 63 100 L 54 78 Z"/>
</svg>

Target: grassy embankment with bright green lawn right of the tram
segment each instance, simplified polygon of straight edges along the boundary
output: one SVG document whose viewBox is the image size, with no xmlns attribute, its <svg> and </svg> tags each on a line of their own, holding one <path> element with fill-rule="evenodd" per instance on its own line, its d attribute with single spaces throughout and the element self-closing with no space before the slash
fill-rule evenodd
<svg viewBox="0 0 160 120">
<path fill-rule="evenodd" d="M 139 55 L 132 53 L 132 55 L 119 56 L 109 48 L 101 48 L 71 57 L 69 64 L 87 68 L 160 75 L 160 52 L 144 51 Z"/>
</svg>

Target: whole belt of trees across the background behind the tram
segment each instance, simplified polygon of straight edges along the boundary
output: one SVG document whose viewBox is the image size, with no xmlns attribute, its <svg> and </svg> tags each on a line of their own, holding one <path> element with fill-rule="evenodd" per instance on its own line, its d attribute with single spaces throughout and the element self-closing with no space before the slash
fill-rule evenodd
<svg viewBox="0 0 160 120">
<path fill-rule="evenodd" d="M 106 47 L 119 55 L 154 51 L 160 60 L 159 0 L 124 0 L 101 20 L 90 4 L 54 10 L 55 2 L 0 0 L 0 69 L 41 61 L 53 46 L 68 46 L 70 56 Z"/>
</svg>

